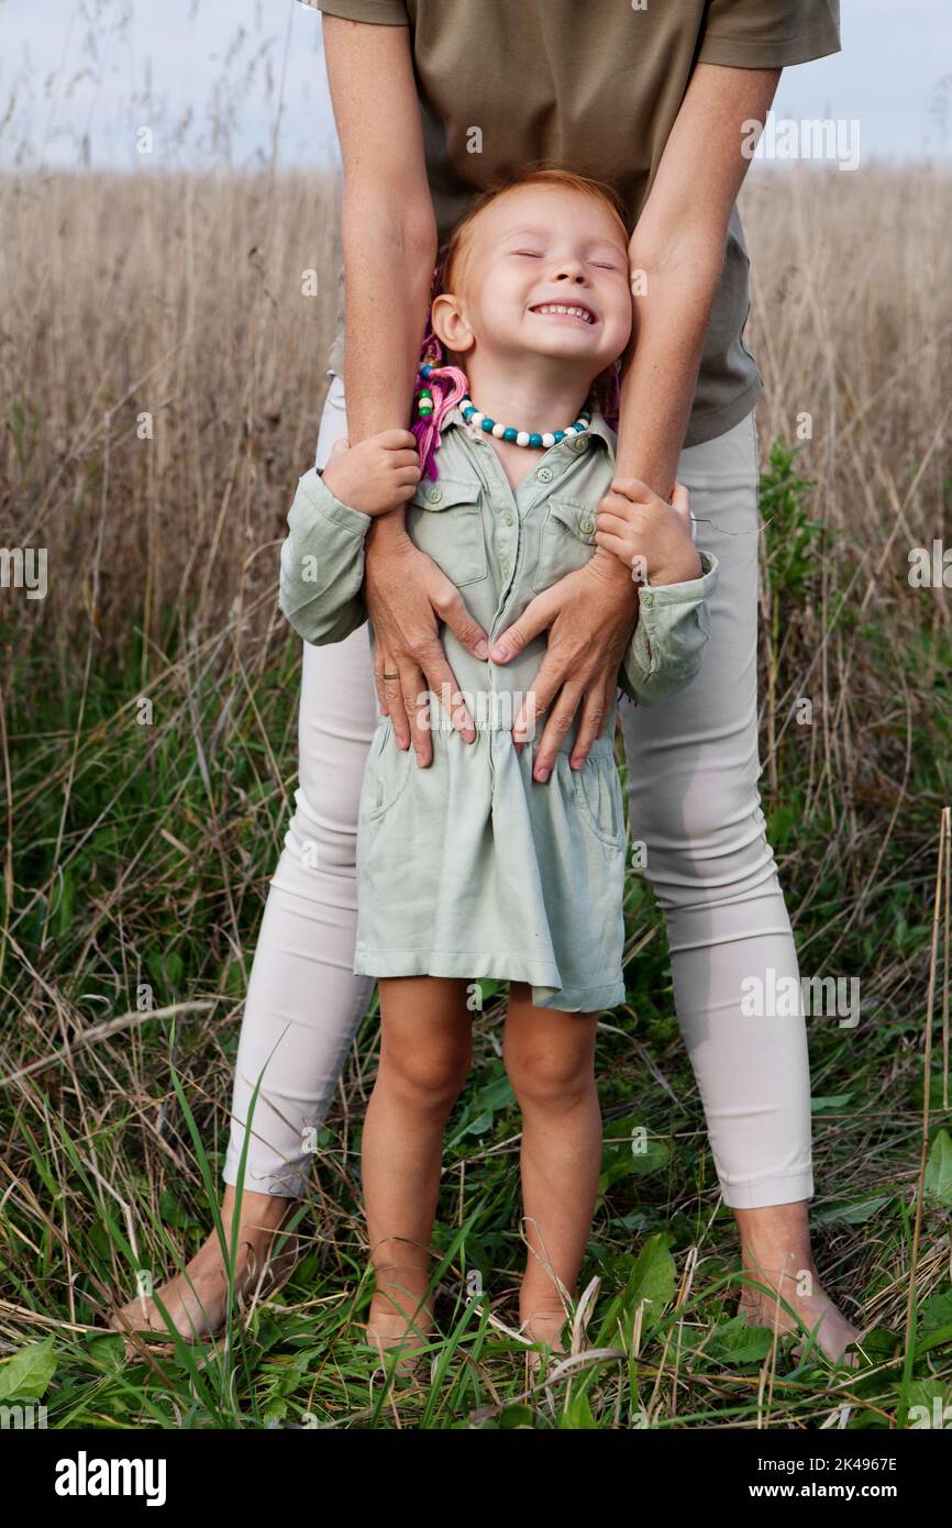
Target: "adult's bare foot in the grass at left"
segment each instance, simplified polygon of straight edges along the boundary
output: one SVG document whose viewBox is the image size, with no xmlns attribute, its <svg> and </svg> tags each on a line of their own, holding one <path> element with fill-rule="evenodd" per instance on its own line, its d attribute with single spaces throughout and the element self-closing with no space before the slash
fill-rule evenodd
<svg viewBox="0 0 952 1528">
<path fill-rule="evenodd" d="M 261 1279 L 261 1270 L 269 1261 L 275 1233 L 287 1219 L 293 1199 L 274 1193 L 249 1193 L 241 1196 L 241 1222 L 238 1225 L 238 1250 L 235 1256 L 234 1290 L 244 1294 Z M 226 1184 L 222 1199 L 222 1225 L 226 1239 L 235 1209 L 235 1190 Z M 290 1273 L 296 1261 L 296 1247 L 286 1247 L 280 1258 L 272 1259 L 261 1288 L 274 1291 L 281 1277 Z M 176 1274 L 156 1291 L 168 1317 L 180 1337 L 193 1342 L 219 1329 L 228 1305 L 228 1273 L 222 1258 L 222 1244 L 215 1230 L 202 1242 L 199 1251 L 183 1273 Z M 138 1296 L 110 1313 L 108 1325 L 128 1334 L 157 1332 L 168 1337 L 165 1322 L 154 1296 Z"/>
</svg>

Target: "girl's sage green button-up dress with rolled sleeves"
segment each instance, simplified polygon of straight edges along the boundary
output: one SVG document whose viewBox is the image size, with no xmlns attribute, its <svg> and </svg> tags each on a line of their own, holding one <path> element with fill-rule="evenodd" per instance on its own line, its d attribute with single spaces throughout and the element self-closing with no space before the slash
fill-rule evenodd
<svg viewBox="0 0 952 1528">
<path fill-rule="evenodd" d="M 458 408 L 442 425 L 437 480 L 406 506 L 411 539 L 460 590 L 491 645 L 541 590 L 594 555 L 594 516 L 614 475 L 616 435 L 590 429 L 550 446 L 512 489 L 500 458 Z M 367 620 L 364 538 L 370 516 L 306 472 L 281 547 L 281 610 L 306 642 L 342 642 Z M 709 636 L 701 578 L 639 588 L 622 691 L 654 704 L 697 675 Z M 625 813 L 614 764 L 616 700 L 581 770 L 568 755 L 578 717 L 549 779 L 532 778 L 535 740 L 516 753 L 512 724 L 546 652 L 538 637 L 510 663 L 481 662 L 440 628 L 477 736 L 432 697 L 432 762 L 397 749 L 379 717 L 358 819 L 353 969 L 371 976 L 526 981 L 538 1007 L 597 1012 L 625 1001 L 622 979 Z M 373 645 L 373 626 L 370 626 Z"/>
</svg>

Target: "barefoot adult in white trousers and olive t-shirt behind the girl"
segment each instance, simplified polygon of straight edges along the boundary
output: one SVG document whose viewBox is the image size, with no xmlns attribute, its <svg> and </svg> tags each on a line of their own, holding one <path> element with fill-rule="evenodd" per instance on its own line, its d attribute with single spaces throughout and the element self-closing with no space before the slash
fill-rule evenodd
<svg viewBox="0 0 952 1528">
<path fill-rule="evenodd" d="M 631 831 L 646 845 L 646 876 L 665 911 L 678 1021 L 744 1265 L 808 1326 L 821 1322 L 821 1346 L 839 1357 L 856 1332 L 824 1296 L 810 1253 L 804 1021 L 750 1019 L 741 1007 L 746 978 L 770 967 L 796 976 L 798 967 L 756 792 L 752 411 L 761 382 L 741 341 L 747 255 L 735 208 L 749 125 L 764 121 L 781 69 L 839 49 L 836 0 L 596 0 L 584 23 L 572 0 L 306 3 L 325 12 L 345 177 L 347 344 L 338 335 L 330 356 L 319 452 L 344 431 L 356 442 L 406 426 L 439 244 L 494 177 L 556 159 L 613 185 L 637 217 L 616 487 L 640 480 L 668 498 L 675 477 L 686 483 L 698 544 L 717 552 L 721 575 L 701 678 L 651 712 L 622 709 Z M 585 280 L 575 269 L 550 275 L 567 289 Z M 388 299 L 394 290 L 400 301 Z M 410 542 L 402 507 L 374 521 L 365 588 L 377 697 L 402 746 L 413 741 L 426 767 L 417 697 L 443 683 L 455 689 L 439 620 L 471 651 L 483 633 Z M 536 714 L 547 718 L 539 788 L 576 712 L 575 764 L 599 733 L 634 599 L 623 568 L 599 549 L 494 646 L 492 657 L 506 662 L 549 628 L 535 686 Z M 371 706 L 365 633 L 306 649 L 298 810 L 255 955 L 225 1167 L 232 1186 L 251 1089 L 267 1063 L 249 1144 L 240 1279 L 260 1267 L 301 1192 L 301 1131 L 322 1115 L 370 998 L 350 964 L 356 790 Z M 229 1187 L 226 1224 L 232 1203 Z M 183 1325 L 217 1323 L 214 1236 L 188 1280 L 160 1293 Z M 766 1323 L 778 1319 L 769 1294 L 743 1305 Z M 138 1305 L 128 1309 L 138 1320 Z"/>
</svg>

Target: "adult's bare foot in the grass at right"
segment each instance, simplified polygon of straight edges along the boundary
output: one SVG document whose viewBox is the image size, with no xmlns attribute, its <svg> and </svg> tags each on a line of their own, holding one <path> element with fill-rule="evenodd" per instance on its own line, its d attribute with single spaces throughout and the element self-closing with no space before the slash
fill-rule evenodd
<svg viewBox="0 0 952 1528">
<path fill-rule="evenodd" d="M 744 1273 L 772 1291 L 766 1294 L 749 1284 L 744 1285 L 738 1316 L 746 1316 L 750 1325 L 769 1326 L 772 1331 L 798 1331 L 798 1322 L 778 1305 L 779 1293 L 807 1331 L 816 1328 L 816 1346 L 831 1363 L 854 1366 L 859 1361 L 857 1355 L 844 1355 L 850 1343 L 857 1342 L 862 1334 L 836 1308 L 821 1285 L 810 1251 L 807 1203 L 801 1199 L 758 1210 L 735 1209 Z M 804 1346 L 805 1342 L 798 1345 L 796 1352 L 801 1354 Z"/>
</svg>

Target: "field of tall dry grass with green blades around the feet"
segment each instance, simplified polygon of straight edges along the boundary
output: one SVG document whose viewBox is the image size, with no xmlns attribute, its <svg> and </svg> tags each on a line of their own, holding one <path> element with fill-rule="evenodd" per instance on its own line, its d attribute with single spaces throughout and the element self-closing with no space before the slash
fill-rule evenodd
<svg viewBox="0 0 952 1528">
<path fill-rule="evenodd" d="M 764 810 L 804 973 L 862 983 L 859 1027 L 813 1021 L 810 1045 L 816 1258 L 876 1325 L 866 1368 L 796 1365 L 733 1320 L 732 1218 L 634 877 L 582 1274 L 601 1279 L 588 1340 L 622 1334 L 623 1360 L 527 1384 L 489 1302 L 466 1302 L 480 1270 L 510 1322 L 523 1256 L 495 993 L 448 1131 L 429 1386 L 384 1400 L 359 1345 L 373 1012 L 290 1284 L 228 1345 L 125 1363 L 102 1331 L 133 1270 L 159 1282 L 211 1224 L 295 785 L 277 555 L 327 380 L 336 196 L 293 174 L 0 177 L 0 545 L 47 549 L 46 597 L 0 588 L 0 1395 L 44 1398 L 50 1426 L 821 1427 L 844 1406 L 848 1427 L 908 1426 L 952 1400 L 947 872 L 934 940 L 950 601 L 909 582 L 912 549 L 952 547 L 952 177 L 928 167 L 758 167 L 741 203 L 766 380 Z"/>
</svg>

